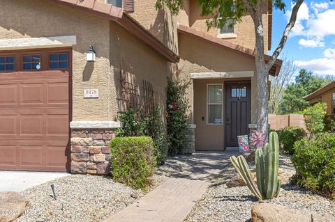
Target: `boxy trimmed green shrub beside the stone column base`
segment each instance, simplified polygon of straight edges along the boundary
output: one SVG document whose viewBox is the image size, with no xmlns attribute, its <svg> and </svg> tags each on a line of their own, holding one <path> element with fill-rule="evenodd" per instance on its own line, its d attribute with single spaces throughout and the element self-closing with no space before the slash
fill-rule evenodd
<svg viewBox="0 0 335 222">
<path fill-rule="evenodd" d="M 117 137 L 110 141 L 115 181 L 135 189 L 147 189 L 156 168 L 154 142 L 149 136 Z"/>
</svg>

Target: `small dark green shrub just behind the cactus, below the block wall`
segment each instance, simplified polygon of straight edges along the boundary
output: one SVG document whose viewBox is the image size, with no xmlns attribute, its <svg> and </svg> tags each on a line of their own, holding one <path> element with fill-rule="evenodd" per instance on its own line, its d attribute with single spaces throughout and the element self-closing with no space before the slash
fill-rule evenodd
<svg viewBox="0 0 335 222">
<path fill-rule="evenodd" d="M 306 132 L 302 127 L 289 126 L 278 130 L 278 136 L 283 151 L 292 155 L 294 153 L 295 141 L 299 141 L 301 138 L 304 138 L 306 136 Z"/>
</svg>

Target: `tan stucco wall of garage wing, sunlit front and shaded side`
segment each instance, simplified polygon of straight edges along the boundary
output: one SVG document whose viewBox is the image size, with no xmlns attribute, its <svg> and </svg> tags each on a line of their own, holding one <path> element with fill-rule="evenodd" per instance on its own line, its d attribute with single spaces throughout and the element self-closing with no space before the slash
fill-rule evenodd
<svg viewBox="0 0 335 222">
<path fill-rule="evenodd" d="M 73 46 L 73 120 L 116 120 L 114 66 L 151 81 L 165 100 L 167 65 L 149 46 L 107 19 L 41 0 L 0 1 L 0 39 L 76 35 Z M 96 62 L 85 52 L 93 45 Z M 119 63 L 119 59 L 123 63 Z M 152 79 L 151 79 L 152 77 Z M 84 89 L 98 88 L 98 99 L 84 99 Z"/>
</svg>

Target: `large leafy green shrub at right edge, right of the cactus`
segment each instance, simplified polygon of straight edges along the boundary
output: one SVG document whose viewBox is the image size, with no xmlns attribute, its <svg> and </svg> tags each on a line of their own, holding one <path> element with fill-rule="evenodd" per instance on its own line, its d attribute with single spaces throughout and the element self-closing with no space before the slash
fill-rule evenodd
<svg viewBox="0 0 335 222">
<path fill-rule="evenodd" d="M 299 186 L 335 198 L 335 135 L 318 134 L 295 143 L 292 156 Z"/>
</svg>

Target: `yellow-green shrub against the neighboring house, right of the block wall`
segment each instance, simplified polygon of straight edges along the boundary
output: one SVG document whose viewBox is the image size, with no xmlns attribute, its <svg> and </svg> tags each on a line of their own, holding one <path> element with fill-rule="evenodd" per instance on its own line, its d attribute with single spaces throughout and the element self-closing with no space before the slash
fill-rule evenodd
<svg viewBox="0 0 335 222">
<path fill-rule="evenodd" d="M 304 109 L 306 129 L 312 135 L 319 134 L 325 130 L 325 116 L 327 104 L 318 102 Z"/>
</svg>

